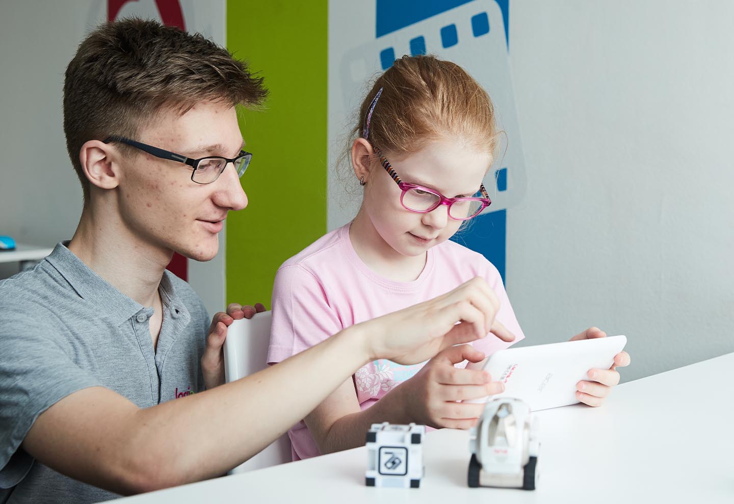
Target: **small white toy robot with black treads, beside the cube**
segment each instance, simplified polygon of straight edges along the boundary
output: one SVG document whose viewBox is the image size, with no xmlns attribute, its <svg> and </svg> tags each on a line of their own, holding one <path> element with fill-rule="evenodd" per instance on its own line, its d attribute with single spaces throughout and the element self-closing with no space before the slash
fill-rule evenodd
<svg viewBox="0 0 734 504">
<path fill-rule="evenodd" d="M 528 404 L 506 397 L 487 402 L 470 436 L 469 486 L 535 489 L 540 442 Z"/>
</svg>

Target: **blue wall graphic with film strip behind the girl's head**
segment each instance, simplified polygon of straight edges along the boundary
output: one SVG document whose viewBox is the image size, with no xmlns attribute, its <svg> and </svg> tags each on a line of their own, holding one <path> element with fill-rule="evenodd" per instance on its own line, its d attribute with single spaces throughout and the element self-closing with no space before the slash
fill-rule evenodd
<svg viewBox="0 0 734 504">
<path fill-rule="evenodd" d="M 402 54 L 435 53 L 461 64 L 489 92 L 509 143 L 501 166 L 484 180 L 491 207 L 452 240 L 482 253 L 505 280 L 506 208 L 526 188 L 525 163 L 509 74 L 509 0 L 377 0 L 375 37 L 379 65 L 387 70 Z M 503 147 L 504 148 L 504 147 Z M 492 190 L 494 189 L 494 190 Z"/>
</svg>

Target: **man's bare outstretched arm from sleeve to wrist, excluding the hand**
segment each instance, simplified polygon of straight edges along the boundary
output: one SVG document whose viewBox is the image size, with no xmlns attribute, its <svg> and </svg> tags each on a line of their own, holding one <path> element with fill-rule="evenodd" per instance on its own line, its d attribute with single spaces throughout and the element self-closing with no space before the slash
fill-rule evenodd
<svg viewBox="0 0 734 504">
<path fill-rule="evenodd" d="M 106 388 L 79 390 L 37 418 L 23 449 L 60 473 L 121 494 L 222 475 L 301 420 L 367 360 L 358 351 L 359 331 L 342 331 L 277 366 L 156 407 L 140 409 Z"/>
</svg>

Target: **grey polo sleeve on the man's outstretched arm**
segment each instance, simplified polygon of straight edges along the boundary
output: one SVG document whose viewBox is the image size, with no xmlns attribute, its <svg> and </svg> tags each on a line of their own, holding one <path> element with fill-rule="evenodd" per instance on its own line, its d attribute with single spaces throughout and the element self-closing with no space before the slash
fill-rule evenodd
<svg viewBox="0 0 734 504">
<path fill-rule="evenodd" d="M 28 473 L 33 459 L 21 443 L 38 415 L 71 393 L 101 385 L 76 366 L 57 336 L 59 327 L 43 311 L 0 304 L 1 489 Z"/>
</svg>

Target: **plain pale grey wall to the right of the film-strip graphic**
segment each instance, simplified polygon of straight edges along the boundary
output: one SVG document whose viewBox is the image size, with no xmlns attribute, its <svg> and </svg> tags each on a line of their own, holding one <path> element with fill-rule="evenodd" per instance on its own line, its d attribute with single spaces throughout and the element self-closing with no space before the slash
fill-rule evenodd
<svg viewBox="0 0 734 504">
<path fill-rule="evenodd" d="M 626 333 L 626 379 L 734 351 L 734 4 L 512 1 L 528 340 Z"/>
</svg>

